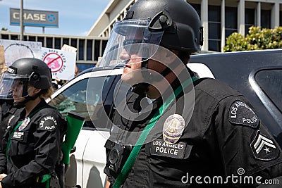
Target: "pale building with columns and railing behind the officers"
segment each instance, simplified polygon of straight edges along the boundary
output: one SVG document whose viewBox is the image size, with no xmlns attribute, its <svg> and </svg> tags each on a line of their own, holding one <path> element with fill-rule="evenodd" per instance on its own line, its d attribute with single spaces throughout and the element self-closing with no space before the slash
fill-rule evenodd
<svg viewBox="0 0 282 188">
<path fill-rule="evenodd" d="M 78 49 L 80 70 L 92 67 L 102 56 L 114 23 L 122 20 L 137 0 L 112 0 L 94 23 L 86 37 L 24 34 L 27 41 L 61 49 L 63 44 Z M 161 0 L 159 0 L 161 1 Z M 173 1 L 173 0 L 171 0 Z M 183 0 L 200 15 L 204 27 L 204 51 L 222 51 L 226 37 L 233 32 L 246 35 L 252 25 L 263 28 L 282 26 L 282 0 Z M 19 39 L 20 33 L 0 31 L 0 39 Z"/>
</svg>

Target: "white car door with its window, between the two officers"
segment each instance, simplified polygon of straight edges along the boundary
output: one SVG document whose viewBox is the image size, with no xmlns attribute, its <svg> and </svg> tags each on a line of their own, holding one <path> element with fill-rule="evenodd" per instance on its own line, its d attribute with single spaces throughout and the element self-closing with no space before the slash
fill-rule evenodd
<svg viewBox="0 0 282 188">
<path fill-rule="evenodd" d="M 94 125 L 91 119 L 101 106 L 107 106 L 104 110 L 106 115 L 111 113 L 112 106 L 109 104 L 112 104 L 113 99 L 109 98 L 109 91 L 121 71 L 101 70 L 82 74 L 63 85 L 51 96 L 51 101 L 47 101 L 63 115 L 75 111 L 86 117 L 75 142 L 75 151 L 71 153 L 71 162 L 66 172 L 67 187 L 104 187 L 104 143 L 109 137 L 109 127 L 106 124 Z"/>
</svg>

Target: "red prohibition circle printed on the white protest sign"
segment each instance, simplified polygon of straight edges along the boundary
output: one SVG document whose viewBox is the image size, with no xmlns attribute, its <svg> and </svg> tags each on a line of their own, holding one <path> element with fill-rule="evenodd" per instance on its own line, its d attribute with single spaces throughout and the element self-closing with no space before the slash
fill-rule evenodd
<svg viewBox="0 0 282 188">
<path fill-rule="evenodd" d="M 51 68 L 52 73 L 56 73 L 63 67 L 63 58 L 54 52 L 47 54 L 43 61 Z"/>
</svg>

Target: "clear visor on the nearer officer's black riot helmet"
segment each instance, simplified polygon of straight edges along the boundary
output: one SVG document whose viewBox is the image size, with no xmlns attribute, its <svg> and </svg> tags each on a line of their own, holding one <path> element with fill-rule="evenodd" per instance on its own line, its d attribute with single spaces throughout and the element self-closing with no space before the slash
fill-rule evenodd
<svg viewBox="0 0 282 188">
<path fill-rule="evenodd" d="M 164 31 L 149 31 L 150 20 L 123 20 L 115 23 L 99 66 L 122 65 L 131 55 L 142 61 L 154 56 Z M 148 45 L 155 44 L 155 45 Z M 121 58 L 121 54 L 128 58 Z"/>
</svg>

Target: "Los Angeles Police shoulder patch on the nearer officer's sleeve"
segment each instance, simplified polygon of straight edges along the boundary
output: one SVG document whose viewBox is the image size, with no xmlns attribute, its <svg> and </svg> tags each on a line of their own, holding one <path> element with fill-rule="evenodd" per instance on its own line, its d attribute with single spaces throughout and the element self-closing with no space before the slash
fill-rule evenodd
<svg viewBox="0 0 282 188">
<path fill-rule="evenodd" d="M 257 127 L 259 118 L 257 114 L 243 101 L 235 101 L 229 108 L 228 120 L 230 123 Z"/>
</svg>

